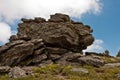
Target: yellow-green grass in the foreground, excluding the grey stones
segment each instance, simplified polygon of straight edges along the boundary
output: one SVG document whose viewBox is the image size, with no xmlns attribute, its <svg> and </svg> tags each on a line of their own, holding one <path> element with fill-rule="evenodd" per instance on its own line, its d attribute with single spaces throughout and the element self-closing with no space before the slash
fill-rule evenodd
<svg viewBox="0 0 120 80">
<path fill-rule="evenodd" d="M 89 73 L 79 73 L 71 71 L 75 66 L 61 66 L 58 64 L 47 65 L 34 68 L 34 75 L 24 78 L 10 79 L 8 75 L 1 75 L 0 80 L 119 80 L 115 75 L 120 73 L 120 67 L 114 68 L 95 68 L 83 66 Z M 81 67 L 77 67 L 81 68 Z"/>
</svg>

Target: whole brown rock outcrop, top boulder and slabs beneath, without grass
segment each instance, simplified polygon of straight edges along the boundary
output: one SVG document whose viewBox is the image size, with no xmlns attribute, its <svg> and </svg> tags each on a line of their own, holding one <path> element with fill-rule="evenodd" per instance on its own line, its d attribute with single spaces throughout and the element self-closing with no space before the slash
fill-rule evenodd
<svg viewBox="0 0 120 80">
<path fill-rule="evenodd" d="M 92 29 L 56 13 L 43 18 L 21 19 L 17 35 L 0 47 L 0 65 L 25 66 L 51 63 L 73 64 L 94 41 Z M 79 61 L 77 62 L 78 64 Z"/>
</svg>

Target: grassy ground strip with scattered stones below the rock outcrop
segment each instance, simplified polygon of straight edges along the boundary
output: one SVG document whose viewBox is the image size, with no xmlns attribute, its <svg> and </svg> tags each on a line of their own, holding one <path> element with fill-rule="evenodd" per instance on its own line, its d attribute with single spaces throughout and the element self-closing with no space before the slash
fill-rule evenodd
<svg viewBox="0 0 120 80">
<path fill-rule="evenodd" d="M 100 67 L 91 65 L 63 66 L 60 64 L 24 67 L 1 66 L 0 80 L 119 80 L 120 58 L 103 56 L 100 58 L 106 59 L 106 61 L 108 58 L 109 60 L 114 60 L 111 63 L 106 62 Z M 115 60 L 116 63 L 114 62 Z"/>
</svg>

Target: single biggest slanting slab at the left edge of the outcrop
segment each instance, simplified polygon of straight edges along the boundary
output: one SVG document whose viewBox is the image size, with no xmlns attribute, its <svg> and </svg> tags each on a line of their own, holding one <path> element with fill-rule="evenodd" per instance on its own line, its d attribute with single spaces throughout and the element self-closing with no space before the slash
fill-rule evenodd
<svg viewBox="0 0 120 80">
<path fill-rule="evenodd" d="M 8 49 L 0 55 L 0 65 L 18 65 L 33 53 L 33 48 L 32 43 L 23 43 Z"/>
</svg>

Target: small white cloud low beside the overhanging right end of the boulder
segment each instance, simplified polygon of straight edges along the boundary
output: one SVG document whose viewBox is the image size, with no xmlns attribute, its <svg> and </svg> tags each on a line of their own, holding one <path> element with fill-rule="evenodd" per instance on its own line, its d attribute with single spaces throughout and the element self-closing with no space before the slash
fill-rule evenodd
<svg viewBox="0 0 120 80">
<path fill-rule="evenodd" d="M 96 39 L 91 46 L 88 46 L 84 52 L 102 52 L 103 51 L 103 40 Z"/>
</svg>

